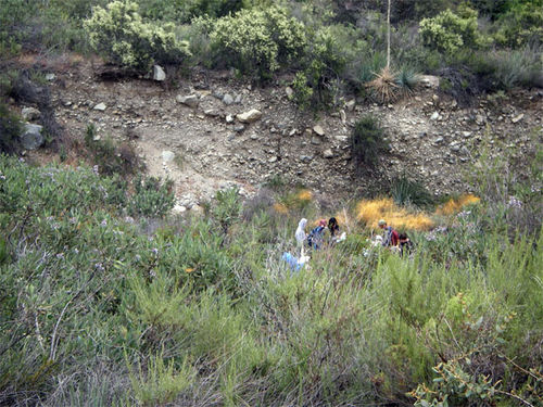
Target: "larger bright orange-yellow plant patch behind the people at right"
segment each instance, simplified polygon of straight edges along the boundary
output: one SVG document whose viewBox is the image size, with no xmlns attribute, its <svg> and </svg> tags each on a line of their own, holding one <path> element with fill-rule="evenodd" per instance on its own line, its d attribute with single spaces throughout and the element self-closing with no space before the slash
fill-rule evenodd
<svg viewBox="0 0 543 407">
<path fill-rule="evenodd" d="M 356 206 L 356 216 L 371 228 L 378 227 L 379 219 L 386 219 L 388 225 L 394 228 L 412 230 L 429 230 L 434 225 L 428 215 L 401 208 L 389 198 L 359 202 Z"/>
</svg>

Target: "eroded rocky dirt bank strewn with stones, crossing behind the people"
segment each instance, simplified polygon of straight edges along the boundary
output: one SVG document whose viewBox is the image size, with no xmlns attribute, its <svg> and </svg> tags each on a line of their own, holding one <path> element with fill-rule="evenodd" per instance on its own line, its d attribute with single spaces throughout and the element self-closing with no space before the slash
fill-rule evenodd
<svg viewBox="0 0 543 407">
<path fill-rule="evenodd" d="M 81 63 L 52 72 L 59 122 L 76 138 L 94 124 L 99 136 L 134 139 L 149 173 L 173 178 L 187 207 L 225 186 L 250 194 L 274 176 L 341 195 L 375 190 L 403 174 L 437 194 L 464 191 L 463 173 L 483 145 L 492 154 L 504 148 L 523 154 L 542 137 L 541 90 L 460 107 L 428 81 L 395 104 L 353 99 L 315 117 L 296 110 L 285 80 L 254 88 L 228 74 L 200 72 L 172 89 L 151 80 L 100 81 L 94 69 Z M 353 125 L 366 114 L 380 118 L 391 143 L 371 170 L 356 168 L 350 149 Z"/>
</svg>

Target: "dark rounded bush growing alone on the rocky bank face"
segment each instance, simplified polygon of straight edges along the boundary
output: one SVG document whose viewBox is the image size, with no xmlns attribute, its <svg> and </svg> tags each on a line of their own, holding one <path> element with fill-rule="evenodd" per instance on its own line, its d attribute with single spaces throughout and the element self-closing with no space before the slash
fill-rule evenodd
<svg viewBox="0 0 543 407">
<path fill-rule="evenodd" d="M 377 118 L 367 115 L 356 122 L 351 136 L 351 149 L 355 161 L 368 166 L 375 166 L 379 156 L 389 151 L 384 130 Z"/>
</svg>

